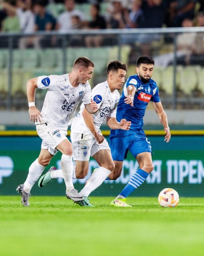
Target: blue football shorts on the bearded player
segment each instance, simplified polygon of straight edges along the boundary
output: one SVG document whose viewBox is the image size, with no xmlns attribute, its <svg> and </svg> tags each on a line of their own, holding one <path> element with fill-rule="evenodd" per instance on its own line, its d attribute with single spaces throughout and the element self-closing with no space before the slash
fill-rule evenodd
<svg viewBox="0 0 204 256">
<path fill-rule="evenodd" d="M 129 131 L 129 135 L 120 137 L 111 137 L 109 146 L 114 161 L 123 161 L 127 157 L 127 152 L 136 158 L 142 152 L 150 152 L 151 144 L 143 130 Z"/>
</svg>

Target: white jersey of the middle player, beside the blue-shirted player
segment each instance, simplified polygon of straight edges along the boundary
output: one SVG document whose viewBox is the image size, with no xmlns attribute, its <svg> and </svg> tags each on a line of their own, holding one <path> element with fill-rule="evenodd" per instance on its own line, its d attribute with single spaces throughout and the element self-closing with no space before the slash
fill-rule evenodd
<svg viewBox="0 0 204 256">
<path fill-rule="evenodd" d="M 98 111 L 93 114 L 93 122 L 97 130 L 106 117 L 116 117 L 117 104 L 120 99 L 120 93 L 115 90 L 111 93 L 109 85 L 106 82 L 98 83 L 91 92 L 91 98 L 97 103 Z M 71 130 L 75 133 L 88 134 L 91 133 L 87 127 L 82 111 L 84 110 L 84 104 L 81 105 L 79 113 L 76 115 Z"/>
</svg>

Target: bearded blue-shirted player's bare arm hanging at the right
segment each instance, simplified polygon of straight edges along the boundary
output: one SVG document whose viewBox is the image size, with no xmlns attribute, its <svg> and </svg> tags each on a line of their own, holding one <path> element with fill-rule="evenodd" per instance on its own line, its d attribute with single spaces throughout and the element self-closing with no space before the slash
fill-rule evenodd
<svg viewBox="0 0 204 256">
<path fill-rule="evenodd" d="M 168 125 L 168 120 L 167 120 L 167 116 L 166 113 L 162 107 L 161 102 L 153 102 L 153 106 L 154 109 L 159 117 L 159 120 L 161 122 L 161 124 L 164 126 L 164 132 L 166 132 L 166 136 L 164 137 L 164 141 L 166 141 L 167 143 L 170 141 L 171 139 L 171 133 L 169 130 L 169 125 Z"/>
</svg>

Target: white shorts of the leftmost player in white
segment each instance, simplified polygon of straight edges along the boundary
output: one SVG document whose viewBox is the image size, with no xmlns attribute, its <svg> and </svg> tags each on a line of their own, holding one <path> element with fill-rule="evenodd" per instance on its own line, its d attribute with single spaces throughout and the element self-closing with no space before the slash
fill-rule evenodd
<svg viewBox="0 0 204 256">
<path fill-rule="evenodd" d="M 36 131 L 42 139 L 41 148 L 48 149 L 53 156 L 58 152 L 56 147 L 64 141 L 64 139 L 67 139 L 67 130 L 62 130 L 54 124 L 36 124 Z"/>
</svg>

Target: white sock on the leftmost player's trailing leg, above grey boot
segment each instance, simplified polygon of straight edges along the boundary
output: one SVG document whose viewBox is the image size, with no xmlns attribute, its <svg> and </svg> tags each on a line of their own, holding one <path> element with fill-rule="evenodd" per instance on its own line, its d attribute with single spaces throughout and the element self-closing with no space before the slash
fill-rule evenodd
<svg viewBox="0 0 204 256">
<path fill-rule="evenodd" d="M 26 193 L 30 193 L 31 188 L 40 178 L 45 168 L 46 166 L 40 165 L 40 163 L 38 163 L 38 158 L 31 164 L 31 166 L 29 167 L 27 179 L 24 182 L 24 191 Z"/>
</svg>

